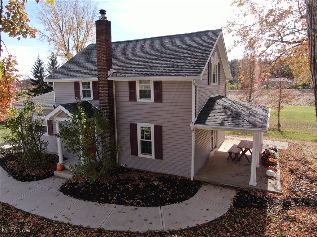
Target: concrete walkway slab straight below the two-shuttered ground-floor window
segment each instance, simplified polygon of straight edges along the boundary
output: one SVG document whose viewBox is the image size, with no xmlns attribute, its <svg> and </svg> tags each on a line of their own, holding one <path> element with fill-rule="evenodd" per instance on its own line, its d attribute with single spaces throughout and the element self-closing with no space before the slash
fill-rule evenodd
<svg viewBox="0 0 317 237">
<path fill-rule="evenodd" d="M 133 207 L 117 205 L 101 228 L 144 232 L 163 230 L 159 207 Z"/>
</svg>

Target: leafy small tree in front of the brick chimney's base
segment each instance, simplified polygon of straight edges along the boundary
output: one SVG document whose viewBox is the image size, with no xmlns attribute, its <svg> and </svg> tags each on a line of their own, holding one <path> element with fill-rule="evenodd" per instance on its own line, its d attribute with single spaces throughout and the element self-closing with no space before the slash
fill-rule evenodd
<svg viewBox="0 0 317 237">
<path fill-rule="evenodd" d="M 117 147 L 114 157 L 109 157 L 101 147 L 101 134 L 108 129 L 108 121 L 93 106 L 94 114 L 88 116 L 81 102 L 77 102 L 78 111 L 69 120 L 60 123 L 57 137 L 66 143 L 68 152 L 78 155 L 79 164 L 71 167 L 71 171 L 80 176 L 89 177 L 93 183 L 96 179 L 105 180 L 116 165 Z M 109 146 L 107 144 L 106 146 Z"/>
</svg>

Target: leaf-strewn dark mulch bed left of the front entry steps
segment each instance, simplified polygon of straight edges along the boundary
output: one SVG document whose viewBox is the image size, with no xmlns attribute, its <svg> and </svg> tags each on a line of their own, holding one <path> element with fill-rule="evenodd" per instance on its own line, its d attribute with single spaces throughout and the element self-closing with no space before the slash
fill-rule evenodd
<svg viewBox="0 0 317 237">
<path fill-rule="evenodd" d="M 20 161 L 20 153 L 11 153 L 10 149 L 1 152 L 0 165 L 14 179 L 23 182 L 37 181 L 46 179 L 54 175 L 58 156 L 55 154 L 46 154 L 45 163 L 40 168 L 30 169 L 27 165 L 23 165 Z"/>
</svg>

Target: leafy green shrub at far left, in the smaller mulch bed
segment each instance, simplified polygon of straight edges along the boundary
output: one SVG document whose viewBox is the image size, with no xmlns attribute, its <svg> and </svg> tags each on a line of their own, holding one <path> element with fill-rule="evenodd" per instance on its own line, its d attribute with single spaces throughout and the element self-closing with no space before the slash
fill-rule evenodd
<svg viewBox="0 0 317 237">
<path fill-rule="evenodd" d="M 35 105 L 32 100 L 23 103 L 23 109 L 10 108 L 7 119 L 9 133 L 4 140 L 16 151 L 23 151 L 21 161 L 30 168 L 38 168 L 45 163 L 48 142 L 42 140 L 46 129 L 42 118 L 42 106 Z"/>
</svg>

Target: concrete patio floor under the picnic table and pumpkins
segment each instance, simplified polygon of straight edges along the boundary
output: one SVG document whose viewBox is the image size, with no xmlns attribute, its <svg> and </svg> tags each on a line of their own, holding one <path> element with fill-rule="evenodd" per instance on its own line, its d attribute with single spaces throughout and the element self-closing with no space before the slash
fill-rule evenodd
<svg viewBox="0 0 317 237">
<path fill-rule="evenodd" d="M 249 185 L 251 163 L 247 161 L 245 157 L 242 157 L 240 161 L 232 161 L 230 158 L 227 160 L 229 154 L 228 150 L 233 144 L 238 144 L 242 138 L 226 137 L 226 140 L 220 146 L 220 148 L 210 155 L 206 163 L 195 174 L 194 179 L 213 184 L 228 185 L 242 188 L 252 188 L 258 190 L 266 190 L 270 192 L 281 192 L 281 178 L 280 178 L 280 166 L 277 166 L 277 172 L 274 177 L 268 177 L 266 175 L 266 167 L 259 162 L 259 166 L 256 169 L 256 186 Z M 246 138 L 243 138 L 244 140 Z M 252 140 L 252 139 L 249 139 Z M 274 142 L 263 140 L 263 149 L 267 148 L 267 145 L 277 146 L 278 149 L 287 149 L 288 144 L 286 142 Z M 252 156 L 249 152 L 246 153 L 251 160 Z M 259 155 L 260 158 L 260 155 Z"/>
</svg>

